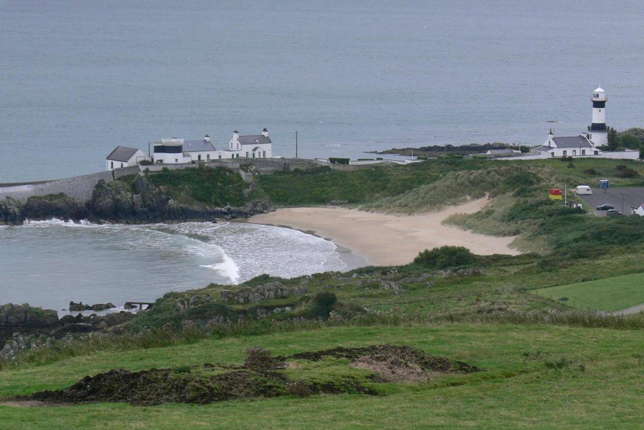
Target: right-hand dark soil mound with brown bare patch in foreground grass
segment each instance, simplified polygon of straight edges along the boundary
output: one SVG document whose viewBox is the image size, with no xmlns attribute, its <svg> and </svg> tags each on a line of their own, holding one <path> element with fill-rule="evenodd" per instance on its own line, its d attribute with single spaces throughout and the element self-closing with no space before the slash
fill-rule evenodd
<svg viewBox="0 0 644 430">
<path fill-rule="evenodd" d="M 384 381 L 422 381 L 428 375 L 426 372 L 438 373 L 470 373 L 480 369 L 450 360 L 446 357 L 426 354 L 422 350 L 410 346 L 372 345 L 363 348 L 333 348 L 316 352 L 301 352 L 291 355 L 292 359 L 318 361 L 323 357 L 348 358 L 352 366 L 368 368 L 379 373 Z M 425 372 L 423 372 L 425 371 Z M 404 379 L 407 375 L 408 379 Z"/>
</svg>

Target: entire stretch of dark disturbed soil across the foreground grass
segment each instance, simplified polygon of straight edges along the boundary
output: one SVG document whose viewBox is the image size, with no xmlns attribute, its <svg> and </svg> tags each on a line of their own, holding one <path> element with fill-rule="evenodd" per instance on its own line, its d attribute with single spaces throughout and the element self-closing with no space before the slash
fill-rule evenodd
<svg viewBox="0 0 644 430">
<path fill-rule="evenodd" d="M 207 404 L 232 399 L 278 397 L 317 393 L 361 393 L 377 395 L 359 379 L 337 377 L 332 382 L 289 379 L 282 370 L 286 358 L 317 361 L 322 357 L 347 357 L 350 366 L 377 373 L 376 382 L 426 381 L 437 372 L 477 372 L 478 368 L 460 361 L 425 354 L 408 346 L 376 345 L 365 348 L 334 348 L 304 352 L 292 357 L 274 357 L 269 351 L 254 347 L 246 350 L 242 366 L 205 363 L 204 366 L 175 369 L 149 369 L 129 372 L 113 369 L 86 376 L 64 390 L 40 391 L 30 396 L 7 399 L 16 406 L 79 404 L 92 402 L 128 402 L 149 406 L 166 402 Z"/>
</svg>

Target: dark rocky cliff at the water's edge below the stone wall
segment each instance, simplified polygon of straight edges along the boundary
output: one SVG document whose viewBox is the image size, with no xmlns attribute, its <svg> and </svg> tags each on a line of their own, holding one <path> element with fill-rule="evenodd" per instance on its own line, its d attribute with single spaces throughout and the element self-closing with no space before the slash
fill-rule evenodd
<svg viewBox="0 0 644 430">
<path fill-rule="evenodd" d="M 118 185 L 118 184 L 117 184 Z M 252 188 L 252 184 L 249 185 Z M 268 197 L 255 199 L 243 206 L 209 206 L 194 201 L 182 204 L 172 199 L 164 186 L 155 186 L 144 177 L 138 177 L 135 190 L 99 181 L 91 200 L 79 202 L 64 194 L 30 197 L 23 205 L 7 197 L 0 201 L 0 224 L 18 225 L 26 219 L 51 218 L 91 222 L 121 222 L 147 224 L 167 221 L 211 221 L 216 218 L 246 218 L 257 213 L 275 210 Z"/>
</svg>

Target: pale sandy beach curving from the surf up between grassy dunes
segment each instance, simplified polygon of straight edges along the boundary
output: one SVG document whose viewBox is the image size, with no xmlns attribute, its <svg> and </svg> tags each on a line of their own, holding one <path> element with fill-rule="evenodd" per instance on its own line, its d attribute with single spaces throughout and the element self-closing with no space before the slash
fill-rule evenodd
<svg viewBox="0 0 644 430">
<path fill-rule="evenodd" d="M 477 199 L 419 215 L 390 215 L 345 208 L 285 208 L 255 215 L 256 224 L 288 226 L 332 240 L 363 256 L 368 264 L 407 264 L 419 251 L 443 245 L 466 246 L 476 254 L 519 254 L 509 247 L 515 237 L 493 237 L 441 224 L 453 213 L 474 213 L 488 204 Z"/>
</svg>

